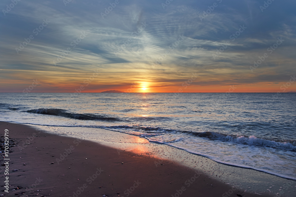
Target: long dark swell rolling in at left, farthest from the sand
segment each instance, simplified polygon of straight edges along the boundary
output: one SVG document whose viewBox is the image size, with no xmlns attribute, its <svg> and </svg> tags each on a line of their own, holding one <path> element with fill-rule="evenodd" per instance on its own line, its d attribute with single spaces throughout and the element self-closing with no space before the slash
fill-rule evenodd
<svg viewBox="0 0 296 197">
<path fill-rule="evenodd" d="M 78 120 L 94 120 L 94 121 L 122 121 L 120 118 L 115 117 L 108 117 L 108 116 L 101 116 L 101 115 L 94 115 L 94 114 L 81 114 L 81 113 L 70 113 L 66 112 L 66 110 L 63 109 L 46 109 L 46 108 L 40 108 L 40 109 L 33 109 L 33 110 L 26 110 L 24 112 L 28 113 L 38 113 L 38 114 L 46 114 L 46 115 L 56 115 L 56 116 L 62 116 L 65 118 L 74 118 Z"/>
</svg>

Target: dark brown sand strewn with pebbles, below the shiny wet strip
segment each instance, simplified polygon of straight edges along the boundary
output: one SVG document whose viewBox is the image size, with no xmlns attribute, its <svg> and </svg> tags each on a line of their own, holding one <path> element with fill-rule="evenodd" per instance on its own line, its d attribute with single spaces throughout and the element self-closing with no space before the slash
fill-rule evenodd
<svg viewBox="0 0 296 197">
<path fill-rule="evenodd" d="M 109 197 L 275 195 L 256 195 L 231 188 L 223 180 L 213 179 L 200 169 L 155 157 L 155 154 L 139 154 L 136 149 L 115 149 L 104 143 L 36 131 L 24 124 L 0 122 L 0 125 L 2 133 L 8 129 L 9 138 L 15 139 L 16 143 L 9 152 L 11 186 L 9 193 L 1 189 L 4 196 L 15 196 L 15 193 L 17 196 L 38 193 L 38 196 Z M 12 172 L 15 169 L 19 171 Z M 0 173 L 3 176 L 3 167 Z M 2 176 L 1 182 L 4 183 Z M 12 191 L 13 188 L 19 189 Z"/>
</svg>

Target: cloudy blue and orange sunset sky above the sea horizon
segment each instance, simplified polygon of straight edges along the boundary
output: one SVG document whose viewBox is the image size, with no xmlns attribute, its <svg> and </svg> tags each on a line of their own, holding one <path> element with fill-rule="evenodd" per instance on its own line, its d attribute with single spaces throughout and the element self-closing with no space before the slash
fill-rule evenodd
<svg viewBox="0 0 296 197">
<path fill-rule="evenodd" d="M 0 92 L 296 91 L 295 0 L 2 0 Z"/>
</svg>

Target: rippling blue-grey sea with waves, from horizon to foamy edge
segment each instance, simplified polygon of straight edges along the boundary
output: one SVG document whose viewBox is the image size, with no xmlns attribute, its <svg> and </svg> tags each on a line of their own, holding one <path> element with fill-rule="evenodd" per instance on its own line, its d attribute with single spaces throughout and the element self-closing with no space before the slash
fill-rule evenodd
<svg viewBox="0 0 296 197">
<path fill-rule="evenodd" d="M 0 93 L 0 121 L 104 128 L 296 180 L 296 93 Z"/>
</svg>

